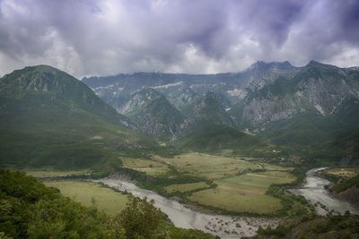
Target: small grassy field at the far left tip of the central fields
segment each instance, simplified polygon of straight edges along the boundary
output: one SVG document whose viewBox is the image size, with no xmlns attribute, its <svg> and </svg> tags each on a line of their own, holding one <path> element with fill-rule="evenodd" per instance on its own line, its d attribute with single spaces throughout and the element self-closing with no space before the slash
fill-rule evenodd
<svg viewBox="0 0 359 239">
<path fill-rule="evenodd" d="M 127 168 L 144 172 L 147 175 L 163 175 L 168 171 L 168 166 L 153 160 L 124 158 L 122 164 Z"/>
</svg>

